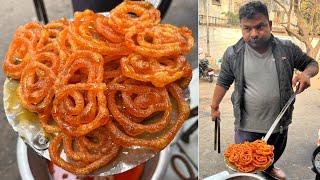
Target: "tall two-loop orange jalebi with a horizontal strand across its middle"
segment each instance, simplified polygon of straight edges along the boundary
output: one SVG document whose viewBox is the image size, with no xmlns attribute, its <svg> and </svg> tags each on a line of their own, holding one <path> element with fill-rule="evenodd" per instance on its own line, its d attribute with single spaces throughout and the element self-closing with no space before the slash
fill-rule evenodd
<svg viewBox="0 0 320 180">
<path fill-rule="evenodd" d="M 108 121 L 103 58 L 90 51 L 76 51 L 55 84 L 52 116 L 65 133 L 81 136 Z"/>
</svg>

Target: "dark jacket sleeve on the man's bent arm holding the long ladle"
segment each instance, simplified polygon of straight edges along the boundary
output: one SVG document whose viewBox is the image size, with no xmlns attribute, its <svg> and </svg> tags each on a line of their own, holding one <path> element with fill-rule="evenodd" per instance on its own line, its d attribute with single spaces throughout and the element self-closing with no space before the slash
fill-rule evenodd
<svg viewBox="0 0 320 180">
<path fill-rule="evenodd" d="M 292 58 L 293 58 L 293 66 L 295 69 L 299 71 L 304 71 L 304 69 L 311 63 L 317 63 L 312 57 L 310 57 L 307 53 L 304 53 L 300 47 L 291 42 L 292 48 Z"/>
</svg>

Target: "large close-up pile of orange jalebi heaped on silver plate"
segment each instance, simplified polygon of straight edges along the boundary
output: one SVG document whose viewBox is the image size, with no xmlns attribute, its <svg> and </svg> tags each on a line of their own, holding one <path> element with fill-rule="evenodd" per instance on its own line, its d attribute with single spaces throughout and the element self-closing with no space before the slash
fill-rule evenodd
<svg viewBox="0 0 320 180">
<path fill-rule="evenodd" d="M 23 107 L 54 136 L 51 160 L 89 174 L 121 147 L 159 151 L 172 141 L 189 115 L 183 89 L 193 41 L 188 28 L 160 24 L 151 4 L 124 1 L 108 17 L 85 10 L 72 21 L 19 27 L 3 69 L 20 81 Z"/>
</svg>

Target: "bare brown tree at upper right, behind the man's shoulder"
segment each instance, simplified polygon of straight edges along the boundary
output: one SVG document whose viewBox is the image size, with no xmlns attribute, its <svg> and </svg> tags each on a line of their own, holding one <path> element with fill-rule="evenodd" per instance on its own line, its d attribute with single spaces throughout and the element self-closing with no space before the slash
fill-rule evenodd
<svg viewBox="0 0 320 180">
<path fill-rule="evenodd" d="M 297 38 L 304 43 L 308 55 L 317 58 L 320 51 L 320 40 L 315 46 L 312 41 L 319 39 L 320 35 L 320 2 L 319 0 L 289 0 L 289 7 L 279 0 L 274 0 L 286 14 L 286 22 L 283 27 L 289 36 Z M 291 22 L 293 13 L 297 19 L 296 23 Z M 318 58 L 319 61 L 320 58 Z"/>
</svg>

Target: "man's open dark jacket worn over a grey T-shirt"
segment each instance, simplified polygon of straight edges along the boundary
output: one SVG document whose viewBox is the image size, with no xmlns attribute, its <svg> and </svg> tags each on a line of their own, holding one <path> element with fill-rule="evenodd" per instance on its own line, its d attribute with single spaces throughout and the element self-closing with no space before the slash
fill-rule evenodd
<svg viewBox="0 0 320 180">
<path fill-rule="evenodd" d="M 294 93 L 292 88 L 294 69 L 303 71 L 309 63 L 317 62 L 302 52 L 302 50 L 291 41 L 280 40 L 272 36 L 271 42 L 278 73 L 280 108 L 282 109 Z M 244 107 L 244 51 L 245 42 L 242 38 L 235 45 L 228 47 L 223 55 L 221 71 L 217 81 L 217 84 L 225 89 L 229 89 L 230 85 L 233 82 L 235 83 L 231 101 L 233 104 L 236 129 L 240 126 L 242 109 Z M 279 112 L 281 109 L 279 109 Z M 293 103 L 282 117 L 274 132 L 279 131 L 280 128 L 285 129 L 288 127 L 292 120 L 292 111 Z"/>
</svg>

